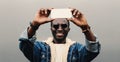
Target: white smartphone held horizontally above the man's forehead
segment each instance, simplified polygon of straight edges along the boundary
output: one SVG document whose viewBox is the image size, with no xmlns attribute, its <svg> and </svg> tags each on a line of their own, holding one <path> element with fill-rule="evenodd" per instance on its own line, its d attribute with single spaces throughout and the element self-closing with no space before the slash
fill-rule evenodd
<svg viewBox="0 0 120 62">
<path fill-rule="evenodd" d="M 71 18 L 72 17 L 71 9 L 69 8 L 52 9 L 50 17 L 51 18 Z"/>
</svg>

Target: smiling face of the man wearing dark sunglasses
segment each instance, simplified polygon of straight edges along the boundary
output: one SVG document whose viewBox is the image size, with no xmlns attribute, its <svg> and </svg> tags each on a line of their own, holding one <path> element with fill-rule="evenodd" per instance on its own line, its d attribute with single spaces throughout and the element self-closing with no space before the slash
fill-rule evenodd
<svg viewBox="0 0 120 62">
<path fill-rule="evenodd" d="M 51 22 L 51 31 L 53 37 L 59 43 L 66 39 L 69 30 L 69 21 L 67 21 L 65 18 L 57 18 Z"/>
</svg>

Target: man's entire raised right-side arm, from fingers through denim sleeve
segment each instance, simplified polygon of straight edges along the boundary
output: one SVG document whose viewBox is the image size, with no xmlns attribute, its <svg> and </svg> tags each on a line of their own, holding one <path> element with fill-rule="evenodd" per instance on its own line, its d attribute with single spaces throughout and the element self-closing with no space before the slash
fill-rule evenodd
<svg viewBox="0 0 120 62">
<path fill-rule="evenodd" d="M 100 50 L 100 44 L 97 37 L 93 34 L 90 26 L 87 23 L 85 16 L 77 9 L 72 9 L 73 18 L 70 20 L 81 28 L 82 32 L 86 37 L 86 45 L 82 49 L 78 47 L 79 51 L 82 51 L 83 62 L 91 62 L 98 54 Z"/>
</svg>

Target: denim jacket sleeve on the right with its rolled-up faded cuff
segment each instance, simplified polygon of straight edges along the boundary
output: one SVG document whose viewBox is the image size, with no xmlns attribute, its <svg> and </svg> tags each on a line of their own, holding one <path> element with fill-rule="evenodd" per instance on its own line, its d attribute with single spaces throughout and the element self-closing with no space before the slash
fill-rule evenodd
<svg viewBox="0 0 120 62">
<path fill-rule="evenodd" d="M 85 46 L 78 44 L 78 55 L 81 62 L 91 62 L 99 52 L 100 44 L 97 37 L 95 42 L 86 39 Z"/>
</svg>

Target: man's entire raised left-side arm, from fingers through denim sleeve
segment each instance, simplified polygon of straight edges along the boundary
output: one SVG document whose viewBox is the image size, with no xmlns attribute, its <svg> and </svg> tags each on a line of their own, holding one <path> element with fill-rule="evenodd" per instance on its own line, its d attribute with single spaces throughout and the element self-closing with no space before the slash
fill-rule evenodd
<svg viewBox="0 0 120 62">
<path fill-rule="evenodd" d="M 20 50 L 23 52 L 25 57 L 31 62 L 33 62 L 33 48 L 34 48 L 34 41 L 36 39 L 34 34 L 40 25 L 52 21 L 52 19 L 48 18 L 50 12 L 51 9 L 40 9 L 36 13 L 28 29 L 25 30 L 19 38 Z"/>
</svg>

